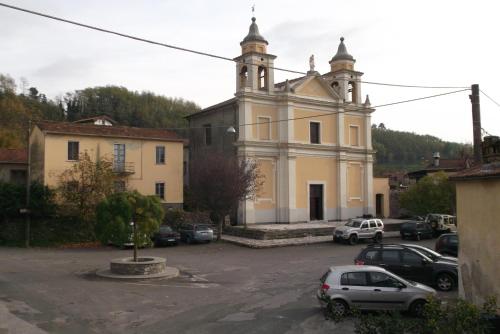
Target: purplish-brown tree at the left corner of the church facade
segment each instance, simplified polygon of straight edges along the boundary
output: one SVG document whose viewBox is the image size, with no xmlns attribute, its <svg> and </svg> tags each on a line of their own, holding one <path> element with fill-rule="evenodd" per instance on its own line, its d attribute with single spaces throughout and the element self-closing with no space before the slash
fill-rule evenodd
<svg viewBox="0 0 500 334">
<path fill-rule="evenodd" d="M 189 179 L 188 205 L 211 212 L 221 238 L 224 217 L 237 211 L 240 201 L 253 199 L 263 176 L 254 160 L 210 153 L 193 159 Z"/>
</svg>

